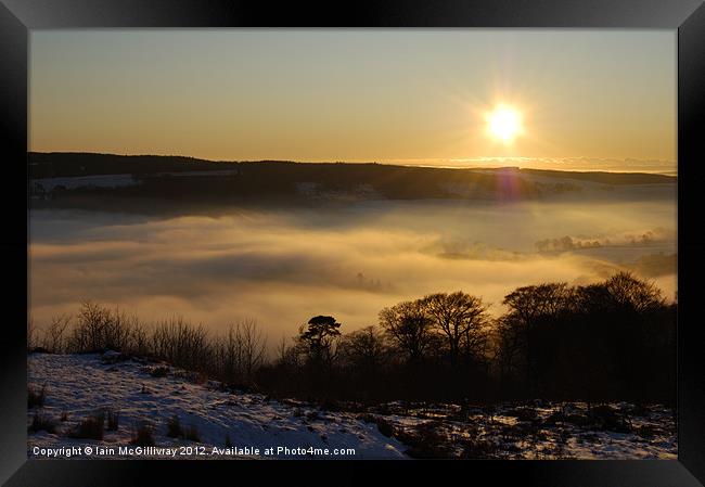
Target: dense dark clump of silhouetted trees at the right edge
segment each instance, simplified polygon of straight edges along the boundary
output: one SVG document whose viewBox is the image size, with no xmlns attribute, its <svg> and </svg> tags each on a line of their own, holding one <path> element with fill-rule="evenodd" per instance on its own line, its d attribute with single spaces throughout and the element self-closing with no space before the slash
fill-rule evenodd
<svg viewBox="0 0 705 487">
<path fill-rule="evenodd" d="M 508 382 L 526 384 L 527 394 L 672 399 L 676 304 L 666 304 L 653 283 L 619 272 L 576 287 L 520 287 L 504 304 L 498 367 Z"/>
</svg>

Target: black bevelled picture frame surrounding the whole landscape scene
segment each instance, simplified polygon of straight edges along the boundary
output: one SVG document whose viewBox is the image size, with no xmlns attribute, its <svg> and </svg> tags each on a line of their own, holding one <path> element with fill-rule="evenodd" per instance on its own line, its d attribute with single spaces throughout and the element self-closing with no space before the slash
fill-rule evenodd
<svg viewBox="0 0 705 487">
<path fill-rule="evenodd" d="M 698 278 L 705 275 L 698 210 L 703 163 L 698 158 L 705 126 L 705 7 L 701 0 L 445 0 L 427 2 L 289 2 L 228 0 L 1 0 L 0 123 L 2 164 L 5 313 L 0 322 L 0 482 L 8 486 L 141 485 L 156 475 L 158 484 L 265 482 L 269 462 L 51 461 L 27 460 L 26 322 L 27 315 L 27 61 L 30 29 L 81 27 L 561 27 L 666 28 L 678 33 L 678 460 L 674 461 L 454 461 L 441 469 L 428 462 L 374 462 L 392 475 L 415 475 L 419 469 L 464 482 L 514 479 L 548 486 L 696 486 L 705 483 L 705 353 L 698 319 Z M 383 464 L 384 463 L 384 464 Z M 359 462 L 325 462 L 344 479 L 370 478 Z M 197 466 L 197 467 L 196 467 Z M 312 482 L 318 467 L 307 462 L 275 462 L 290 478 Z M 366 465 L 367 466 L 367 462 Z M 245 472 L 247 471 L 247 472 Z M 331 475 L 320 473 L 320 478 Z M 296 476 L 294 476 L 296 475 Z M 395 477 L 389 477 L 389 479 Z M 698 483 L 700 480 L 700 483 Z M 154 482 L 154 480 L 152 480 Z M 292 480 L 289 480 L 292 482 Z M 331 482 L 336 482 L 335 477 Z M 488 480 L 482 480 L 488 482 Z"/>
</svg>

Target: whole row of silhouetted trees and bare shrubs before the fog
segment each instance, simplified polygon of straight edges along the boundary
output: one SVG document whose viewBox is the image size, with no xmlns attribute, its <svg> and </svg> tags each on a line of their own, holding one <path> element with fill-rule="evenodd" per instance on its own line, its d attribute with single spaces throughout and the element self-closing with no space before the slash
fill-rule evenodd
<svg viewBox="0 0 705 487">
<path fill-rule="evenodd" d="M 653 283 L 620 272 L 589 285 L 517 287 L 502 304 L 495 318 L 480 297 L 435 293 L 348 333 L 317 316 L 269 359 L 253 321 L 211 336 L 178 319 L 148 328 L 92 304 L 70 333 L 68 319 L 54 320 L 41 343 L 152 356 L 233 387 L 309 400 L 675 400 L 677 304 Z"/>
</svg>

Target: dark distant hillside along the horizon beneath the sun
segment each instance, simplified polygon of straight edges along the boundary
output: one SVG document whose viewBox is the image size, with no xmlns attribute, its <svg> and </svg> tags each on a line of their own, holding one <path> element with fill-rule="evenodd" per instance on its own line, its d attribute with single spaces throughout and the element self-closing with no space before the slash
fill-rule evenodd
<svg viewBox="0 0 705 487">
<path fill-rule="evenodd" d="M 316 204 L 368 200 L 524 201 L 674 185 L 653 174 L 453 169 L 357 163 L 210 162 L 180 156 L 30 153 L 33 207 Z M 620 191 L 624 193 L 624 191 Z M 152 203 L 148 203 L 151 205 Z"/>
</svg>

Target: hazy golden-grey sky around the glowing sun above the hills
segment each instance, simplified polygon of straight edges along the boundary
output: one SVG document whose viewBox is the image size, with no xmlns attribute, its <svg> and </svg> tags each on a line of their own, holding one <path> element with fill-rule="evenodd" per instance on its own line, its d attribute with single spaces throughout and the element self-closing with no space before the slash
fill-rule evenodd
<svg viewBox="0 0 705 487">
<path fill-rule="evenodd" d="M 675 168 L 676 40 L 634 29 L 31 30 L 29 148 Z M 521 118 L 511 141 L 487 131 L 500 105 Z"/>
</svg>

